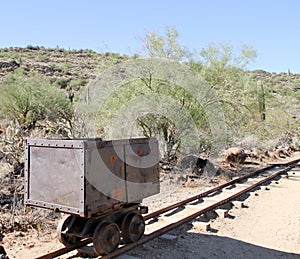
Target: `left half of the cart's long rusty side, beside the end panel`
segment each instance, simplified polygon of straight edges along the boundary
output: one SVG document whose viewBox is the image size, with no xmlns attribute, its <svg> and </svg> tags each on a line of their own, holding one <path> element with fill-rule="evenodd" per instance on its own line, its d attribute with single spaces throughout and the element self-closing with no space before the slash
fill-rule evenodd
<svg viewBox="0 0 300 259">
<path fill-rule="evenodd" d="M 88 217 L 126 203 L 124 146 L 89 141 L 86 148 L 86 209 Z"/>
</svg>

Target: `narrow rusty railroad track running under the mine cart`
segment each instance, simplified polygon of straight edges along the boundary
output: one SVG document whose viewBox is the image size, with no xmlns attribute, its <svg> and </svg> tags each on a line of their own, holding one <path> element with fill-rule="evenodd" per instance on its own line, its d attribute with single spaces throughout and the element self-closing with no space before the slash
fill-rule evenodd
<svg viewBox="0 0 300 259">
<path fill-rule="evenodd" d="M 235 178 L 229 182 L 216 186 L 205 192 L 199 193 L 183 201 L 174 203 L 170 206 L 154 211 L 144 216 L 146 221 L 146 231 L 144 236 L 130 244 L 120 245 L 117 250 L 109 255 L 98 258 L 108 259 L 124 254 L 133 248 L 140 246 L 155 239 L 180 225 L 203 216 L 210 211 L 227 214 L 228 210 L 218 209 L 232 201 L 240 202 L 249 192 L 259 188 L 262 185 L 268 185 L 272 180 L 286 174 L 292 168 L 299 166 L 300 159 L 287 163 L 273 164 L 256 170 L 252 173 Z M 267 187 L 266 187 L 267 188 Z M 61 256 L 75 249 L 82 248 L 92 242 L 92 239 L 84 239 L 74 246 L 62 248 L 37 259 L 49 259 Z"/>
</svg>

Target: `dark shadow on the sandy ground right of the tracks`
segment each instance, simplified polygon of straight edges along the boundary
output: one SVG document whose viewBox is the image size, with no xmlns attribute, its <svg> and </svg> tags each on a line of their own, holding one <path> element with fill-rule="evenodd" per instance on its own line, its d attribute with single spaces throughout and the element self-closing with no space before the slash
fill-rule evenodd
<svg viewBox="0 0 300 259">
<path fill-rule="evenodd" d="M 230 237 L 214 234 L 189 233 L 191 224 L 182 226 L 179 230 L 171 231 L 178 240 L 170 242 L 157 238 L 142 247 L 128 253 L 137 258 L 293 258 L 299 259 L 300 254 L 279 251 L 254 245 Z M 181 234 L 180 234 L 181 233 Z M 184 233 L 184 234 L 182 234 Z"/>
</svg>

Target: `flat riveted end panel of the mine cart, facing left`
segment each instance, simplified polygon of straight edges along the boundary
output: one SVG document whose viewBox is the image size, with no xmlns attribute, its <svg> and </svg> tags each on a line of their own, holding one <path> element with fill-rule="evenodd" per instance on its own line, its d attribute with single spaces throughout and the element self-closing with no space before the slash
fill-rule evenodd
<svg viewBox="0 0 300 259">
<path fill-rule="evenodd" d="M 84 215 L 83 145 L 81 147 L 74 148 L 63 140 L 27 143 L 27 205 Z"/>
</svg>

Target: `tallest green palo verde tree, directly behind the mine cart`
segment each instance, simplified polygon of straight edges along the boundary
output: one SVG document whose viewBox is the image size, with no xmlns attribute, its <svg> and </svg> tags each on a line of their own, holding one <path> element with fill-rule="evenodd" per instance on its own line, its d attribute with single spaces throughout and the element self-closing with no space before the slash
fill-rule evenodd
<svg viewBox="0 0 300 259">
<path fill-rule="evenodd" d="M 99 85 L 107 82 L 107 85 L 109 85 L 108 90 L 114 88 L 114 85 L 118 85 L 116 91 L 107 95 L 104 104 L 102 100 L 98 102 L 101 103 L 101 109 L 93 111 L 97 118 L 95 124 L 97 124 L 98 132 L 104 132 L 104 134 L 109 132 L 111 129 L 108 128 L 111 128 L 111 121 L 127 103 L 131 103 L 132 107 L 139 103 L 141 104 L 140 107 L 124 114 L 123 123 L 133 121 L 144 136 L 158 137 L 161 140 L 160 143 L 163 143 L 161 151 L 166 159 L 175 157 L 180 147 L 189 145 L 187 142 L 192 144 L 197 142 L 193 137 L 186 137 L 190 134 L 191 127 L 196 128 L 200 134 L 210 134 L 203 108 L 204 105 L 209 103 L 209 100 L 203 100 L 199 103 L 199 100 L 196 100 L 193 96 L 202 91 L 201 87 L 204 82 L 199 82 L 196 86 L 198 88 L 193 89 L 194 92 L 188 92 L 183 87 L 183 84 L 187 86 L 194 83 L 189 82 L 191 78 L 188 74 L 193 74 L 194 77 L 197 77 L 198 74 L 188 66 L 185 66 L 185 69 L 183 69 L 184 65 L 180 67 L 181 62 L 189 58 L 189 52 L 179 44 L 178 36 L 179 34 L 175 28 L 167 28 L 164 34 L 147 33 L 142 39 L 143 52 L 141 54 L 146 59 L 133 59 L 123 66 L 122 64 L 116 65 L 111 68 L 110 72 L 104 72 L 100 76 L 101 80 L 99 79 L 99 81 L 101 82 L 98 81 L 88 87 L 86 91 L 88 96 L 84 99 L 89 99 L 89 102 L 94 103 L 96 107 L 96 100 L 105 96 L 105 90 Z M 189 72 L 187 72 L 187 69 Z M 99 96 L 99 93 L 101 93 L 101 96 Z M 142 96 L 150 96 L 150 98 L 147 100 L 143 99 Z M 153 97 L 156 99 L 151 99 Z M 146 111 L 145 107 L 147 105 L 151 106 L 148 102 L 150 99 L 153 103 L 157 103 L 157 106 Z M 162 101 L 162 99 L 164 100 Z M 132 100 L 136 100 L 136 102 L 132 103 Z M 160 104 L 158 104 L 159 100 L 161 101 Z M 163 112 L 168 105 L 173 107 L 172 111 L 169 109 L 167 113 Z M 83 105 L 82 111 L 89 109 L 90 107 Z M 137 110 L 141 113 L 134 117 L 134 120 L 125 120 L 128 114 L 134 114 Z M 186 116 L 176 116 L 175 113 L 183 114 L 183 111 L 185 111 Z M 81 116 L 81 118 L 83 117 L 86 118 Z M 190 118 L 189 122 L 187 118 Z M 181 125 L 181 129 L 179 129 L 179 125 Z M 119 128 L 119 126 L 116 127 Z M 86 132 L 88 131 L 90 130 Z M 185 143 L 182 142 L 183 139 L 185 139 Z M 207 143 L 208 141 L 196 143 L 198 151 L 200 145 L 202 149 L 207 149 L 207 146 L 209 146 Z"/>
</svg>

